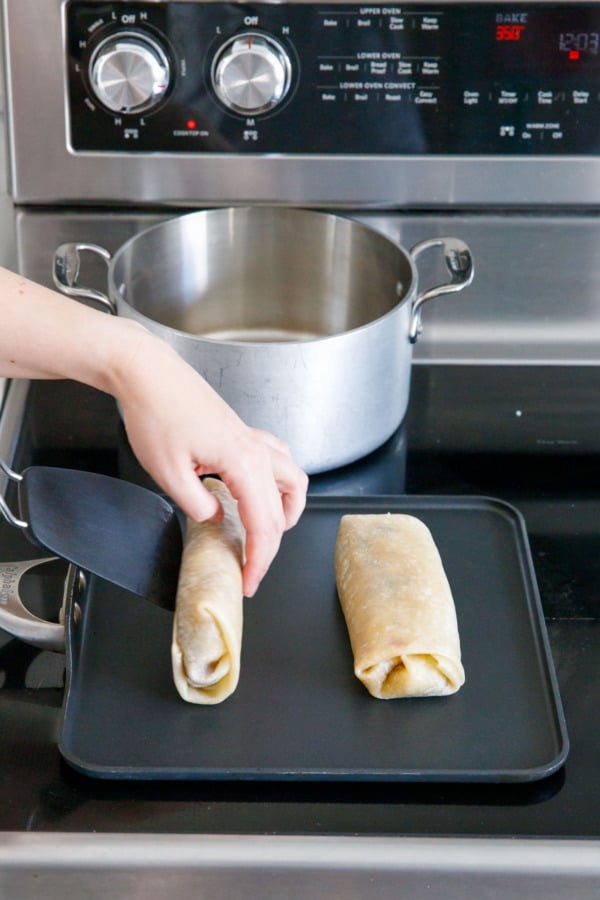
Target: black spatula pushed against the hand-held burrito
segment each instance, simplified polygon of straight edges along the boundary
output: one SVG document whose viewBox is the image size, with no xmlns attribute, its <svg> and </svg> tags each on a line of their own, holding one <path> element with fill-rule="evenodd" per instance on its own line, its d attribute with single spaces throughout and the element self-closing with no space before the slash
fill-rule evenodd
<svg viewBox="0 0 600 900">
<path fill-rule="evenodd" d="M 31 466 L 13 472 L 20 519 L 0 511 L 34 543 L 167 609 L 174 609 L 182 534 L 159 494 L 107 475 Z"/>
</svg>

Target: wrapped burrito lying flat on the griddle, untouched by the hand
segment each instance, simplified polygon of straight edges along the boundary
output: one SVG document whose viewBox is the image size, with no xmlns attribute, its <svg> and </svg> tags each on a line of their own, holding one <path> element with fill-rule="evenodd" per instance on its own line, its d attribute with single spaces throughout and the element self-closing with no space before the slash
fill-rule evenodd
<svg viewBox="0 0 600 900">
<path fill-rule="evenodd" d="M 465 673 L 454 600 L 420 519 L 343 516 L 335 576 L 354 672 L 374 697 L 433 697 L 460 688 Z"/>
</svg>

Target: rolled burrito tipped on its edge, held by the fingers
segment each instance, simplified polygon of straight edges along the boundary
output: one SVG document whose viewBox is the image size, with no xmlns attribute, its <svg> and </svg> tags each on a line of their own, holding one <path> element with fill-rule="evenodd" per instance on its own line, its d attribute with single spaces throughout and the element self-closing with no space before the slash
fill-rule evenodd
<svg viewBox="0 0 600 900">
<path fill-rule="evenodd" d="M 186 523 L 171 663 L 184 700 L 214 704 L 235 691 L 240 676 L 245 533 L 227 487 L 215 478 L 204 486 L 219 498 L 223 518 Z"/>
</svg>

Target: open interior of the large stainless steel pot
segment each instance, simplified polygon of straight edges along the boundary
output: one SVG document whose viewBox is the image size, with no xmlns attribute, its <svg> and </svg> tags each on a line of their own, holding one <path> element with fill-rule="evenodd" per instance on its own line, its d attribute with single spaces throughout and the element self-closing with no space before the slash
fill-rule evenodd
<svg viewBox="0 0 600 900">
<path fill-rule="evenodd" d="M 137 235 L 113 260 L 111 292 L 160 325 L 262 343 L 366 325 L 402 301 L 413 277 L 409 256 L 358 222 L 240 207 L 183 215 Z"/>
</svg>

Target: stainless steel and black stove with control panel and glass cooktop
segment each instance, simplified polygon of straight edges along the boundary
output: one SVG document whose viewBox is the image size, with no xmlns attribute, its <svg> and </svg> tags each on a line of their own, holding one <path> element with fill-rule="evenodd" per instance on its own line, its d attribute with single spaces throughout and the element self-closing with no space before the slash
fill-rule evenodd
<svg viewBox="0 0 600 900">
<path fill-rule="evenodd" d="M 192 872 L 223 897 L 594 895 L 600 3 L 4 0 L 3 13 L 13 262 L 28 277 L 51 285 L 64 242 L 114 252 L 190 208 L 238 203 L 336 211 L 405 247 L 469 244 L 473 284 L 423 315 L 405 421 L 310 492 L 513 504 L 570 752 L 527 784 L 98 781 L 57 749 L 64 657 L 0 633 L 0 878 L 33 890 L 41 873 L 47 896 L 101 896 L 109 876 L 121 895 L 135 877 L 159 896 Z M 23 51 L 41 46 L 43 60 Z M 104 267 L 86 266 L 106 290 Z M 0 451 L 17 470 L 147 483 L 112 399 L 72 383 L 11 383 Z M 0 562 L 31 556 L 1 522 Z M 32 571 L 28 604 L 55 614 L 63 581 Z"/>
</svg>

